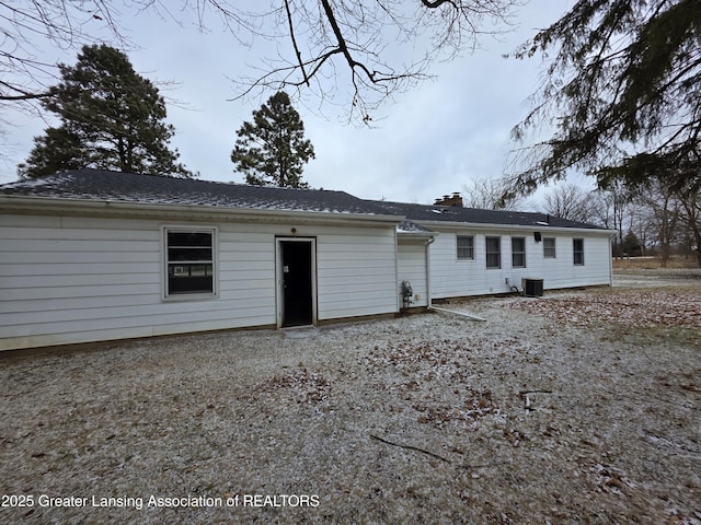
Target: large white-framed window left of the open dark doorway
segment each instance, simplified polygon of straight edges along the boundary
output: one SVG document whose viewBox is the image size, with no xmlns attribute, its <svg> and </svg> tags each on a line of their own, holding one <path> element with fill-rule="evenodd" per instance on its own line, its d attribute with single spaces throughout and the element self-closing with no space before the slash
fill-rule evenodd
<svg viewBox="0 0 701 525">
<path fill-rule="evenodd" d="M 164 229 L 165 296 L 215 294 L 215 230 Z"/>
</svg>

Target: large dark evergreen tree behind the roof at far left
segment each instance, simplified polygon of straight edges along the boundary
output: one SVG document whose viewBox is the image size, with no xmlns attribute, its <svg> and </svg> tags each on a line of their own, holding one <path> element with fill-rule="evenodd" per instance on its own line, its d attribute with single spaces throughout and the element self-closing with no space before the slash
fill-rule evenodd
<svg viewBox="0 0 701 525">
<path fill-rule="evenodd" d="M 194 176 L 168 147 L 174 128 L 164 122 L 163 97 L 126 55 L 104 44 L 83 46 L 76 66 L 59 68 L 62 80 L 43 105 L 61 125 L 34 139 L 20 176 L 79 167 Z"/>
</svg>

